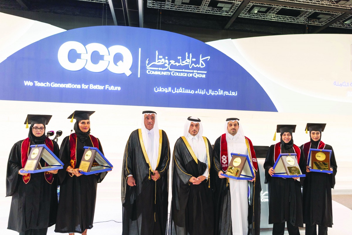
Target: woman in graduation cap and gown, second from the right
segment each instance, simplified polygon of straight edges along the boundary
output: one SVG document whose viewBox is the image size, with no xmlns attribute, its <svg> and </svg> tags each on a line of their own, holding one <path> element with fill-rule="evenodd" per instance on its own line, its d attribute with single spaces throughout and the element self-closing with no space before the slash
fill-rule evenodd
<svg viewBox="0 0 352 235">
<path fill-rule="evenodd" d="M 273 166 L 280 153 L 296 153 L 302 174 L 306 172 L 303 150 L 293 143 L 292 133 L 295 128 L 296 125 L 277 125 L 276 132 L 280 133 L 280 142 L 270 146 L 264 163 L 265 184 L 268 184 L 269 196 L 269 224 L 273 224 L 273 235 L 284 234 L 285 222 L 289 235 L 300 235 L 298 227 L 303 227 L 301 186 L 304 177 L 271 177 L 275 173 Z"/>
</svg>

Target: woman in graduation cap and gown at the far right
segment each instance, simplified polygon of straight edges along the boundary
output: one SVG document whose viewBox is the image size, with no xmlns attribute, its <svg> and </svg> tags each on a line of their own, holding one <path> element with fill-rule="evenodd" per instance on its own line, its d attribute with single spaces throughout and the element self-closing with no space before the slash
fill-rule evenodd
<svg viewBox="0 0 352 235">
<path fill-rule="evenodd" d="M 303 144 L 304 155 L 308 156 L 309 149 L 331 150 L 330 170 L 333 173 L 313 172 L 307 166 L 306 179 L 303 185 L 303 221 L 306 224 L 306 235 L 327 235 L 328 227 L 332 227 L 332 198 L 331 189 L 335 186 L 337 164 L 334 150 L 330 145 L 321 141 L 321 132 L 326 123 L 307 123 L 310 141 Z M 307 165 L 308 165 L 307 157 Z"/>
</svg>

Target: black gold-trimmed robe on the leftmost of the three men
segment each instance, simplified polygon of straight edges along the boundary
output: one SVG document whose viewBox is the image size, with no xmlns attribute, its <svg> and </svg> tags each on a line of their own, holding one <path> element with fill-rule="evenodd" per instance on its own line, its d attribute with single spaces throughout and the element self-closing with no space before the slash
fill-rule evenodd
<svg viewBox="0 0 352 235">
<path fill-rule="evenodd" d="M 152 172 L 146 162 L 139 141 L 138 129 L 128 138 L 121 177 L 122 235 L 167 234 L 169 197 L 170 147 L 168 136 L 162 131 L 162 147 L 156 169 L 160 179 L 151 179 Z M 127 184 L 133 175 L 135 186 Z"/>
</svg>

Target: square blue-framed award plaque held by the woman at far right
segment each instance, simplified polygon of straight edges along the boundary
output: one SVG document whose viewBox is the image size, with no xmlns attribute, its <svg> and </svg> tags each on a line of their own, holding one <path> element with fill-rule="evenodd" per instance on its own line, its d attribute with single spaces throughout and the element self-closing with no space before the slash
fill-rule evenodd
<svg viewBox="0 0 352 235">
<path fill-rule="evenodd" d="M 308 154 L 310 171 L 333 173 L 330 170 L 331 150 L 311 148 Z"/>
</svg>

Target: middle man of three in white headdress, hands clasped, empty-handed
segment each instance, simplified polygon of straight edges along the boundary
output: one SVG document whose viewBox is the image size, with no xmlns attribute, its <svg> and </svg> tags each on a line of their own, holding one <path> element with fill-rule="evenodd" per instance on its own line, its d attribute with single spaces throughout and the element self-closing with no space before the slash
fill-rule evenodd
<svg viewBox="0 0 352 235">
<path fill-rule="evenodd" d="M 211 235 L 214 231 L 209 177 L 213 151 L 202 133 L 200 119 L 189 117 L 183 136 L 175 143 L 169 235 Z"/>
</svg>

